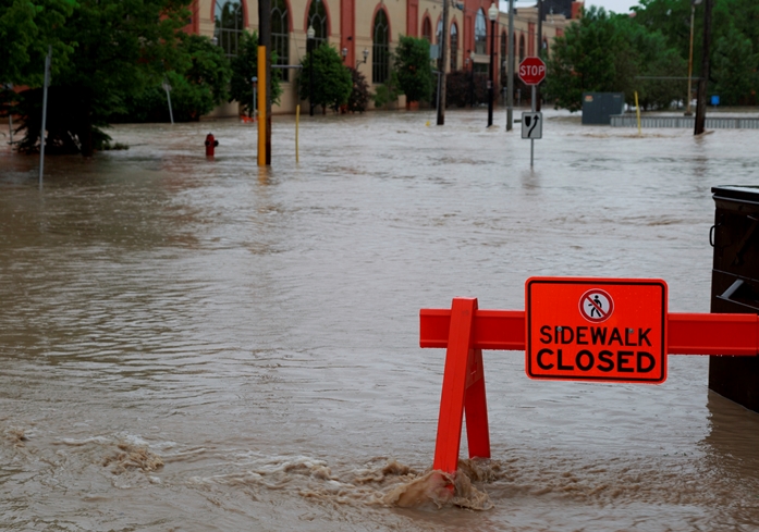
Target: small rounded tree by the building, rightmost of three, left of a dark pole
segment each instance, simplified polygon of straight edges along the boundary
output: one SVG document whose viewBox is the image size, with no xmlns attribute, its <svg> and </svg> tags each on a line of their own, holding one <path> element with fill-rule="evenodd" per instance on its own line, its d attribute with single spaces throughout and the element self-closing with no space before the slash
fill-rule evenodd
<svg viewBox="0 0 759 532">
<path fill-rule="evenodd" d="M 407 101 L 429 101 L 432 65 L 427 39 L 402 36 L 393 54 L 393 70 Z"/>
</svg>

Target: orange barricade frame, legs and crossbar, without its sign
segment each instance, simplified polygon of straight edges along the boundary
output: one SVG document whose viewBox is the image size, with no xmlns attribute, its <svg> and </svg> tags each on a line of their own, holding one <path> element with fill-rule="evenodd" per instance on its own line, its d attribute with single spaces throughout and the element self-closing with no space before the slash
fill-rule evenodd
<svg viewBox="0 0 759 532">
<path fill-rule="evenodd" d="M 600 286 L 604 286 L 603 280 L 583 281 L 591 283 L 598 281 Z M 614 283 L 620 284 L 619 282 L 620 280 L 614 280 Z M 568 283 L 577 284 L 577 280 L 568 281 Z M 633 280 L 631 284 L 634 284 Z M 612 294 L 614 293 L 608 294 L 610 298 Z M 666 312 L 665 302 L 662 308 L 665 311 L 665 319 L 662 320 L 664 330 L 661 332 L 661 337 L 665 338 L 665 355 L 757 356 L 759 354 L 759 316 L 757 314 L 671 313 Z M 555 330 L 561 331 L 562 327 L 559 326 Z M 633 329 L 628 331 L 633 332 Z M 639 338 L 640 331 L 636 333 L 633 336 L 637 335 Z M 434 469 L 446 473 L 456 471 L 465 413 L 469 457 L 490 458 L 482 349 L 525 350 L 526 336 L 525 311 L 479 310 L 476 298 L 456 297 L 450 309 L 420 310 L 419 346 L 446 349 L 434 447 Z M 624 330 L 622 337 L 624 339 L 621 338 L 621 345 L 635 345 L 626 344 L 631 338 L 624 337 Z M 628 351 L 620 351 L 617 356 L 624 357 L 626 355 L 622 354 Z M 580 359 L 583 361 L 589 359 L 588 355 L 582 355 L 582 357 L 584 357 Z M 529 354 L 526 358 L 526 363 L 529 363 Z M 623 368 L 629 371 L 628 367 Z M 654 384 L 663 382 L 665 371 L 662 375 L 662 379 L 650 382 Z M 555 379 L 555 375 L 539 378 Z M 568 375 L 565 379 L 588 380 L 579 374 Z M 620 380 L 620 382 L 631 381 Z"/>
</svg>

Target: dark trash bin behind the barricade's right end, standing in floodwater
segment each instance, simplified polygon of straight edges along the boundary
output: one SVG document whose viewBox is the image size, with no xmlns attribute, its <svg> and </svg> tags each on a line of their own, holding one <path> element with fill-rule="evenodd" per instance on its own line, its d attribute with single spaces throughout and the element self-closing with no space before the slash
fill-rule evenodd
<svg viewBox="0 0 759 532">
<path fill-rule="evenodd" d="M 759 313 L 759 187 L 713 187 L 711 311 Z M 759 357 L 712 356 L 709 388 L 759 412 Z"/>
</svg>

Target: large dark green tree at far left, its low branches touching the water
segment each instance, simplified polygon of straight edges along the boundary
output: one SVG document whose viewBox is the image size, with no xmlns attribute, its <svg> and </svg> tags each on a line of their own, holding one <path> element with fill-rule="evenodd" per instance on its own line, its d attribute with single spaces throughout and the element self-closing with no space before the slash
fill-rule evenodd
<svg viewBox="0 0 759 532">
<path fill-rule="evenodd" d="M 62 151 L 90 156 L 108 136 L 108 117 L 125 110 L 130 95 L 160 82 L 181 66 L 180 32 L 189 0 L 78 0 L 71 15 L 52 29 L 57 41 L 73 51 L 56 57 L 50 88 L 48 138 Z M 40 122 L 33 94 L 20 97 L 26 138 L 34 149 Z M 65 106 L 53 110 L 54 102 Z M 66 148 L 68 147 L 68 148 Z"/>
</svg>

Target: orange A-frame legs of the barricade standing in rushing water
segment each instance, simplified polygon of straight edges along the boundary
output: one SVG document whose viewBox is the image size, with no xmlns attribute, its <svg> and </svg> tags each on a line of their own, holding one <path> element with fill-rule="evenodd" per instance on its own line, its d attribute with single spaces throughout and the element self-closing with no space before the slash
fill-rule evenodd
<svg viewBox="0 0 759 532">
<path fill-rule="evenodd" d="M 465 405 L 469 456 L 490 457 L 482 351 L 472 347 L 476 310 L 474 298 L 457 297 L 451 306 L 433 462 L 434 469 L 446 473 L 454 473 L 458 466 Z"/>
</svg>

